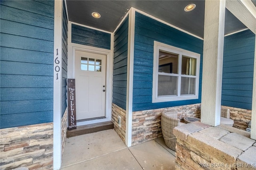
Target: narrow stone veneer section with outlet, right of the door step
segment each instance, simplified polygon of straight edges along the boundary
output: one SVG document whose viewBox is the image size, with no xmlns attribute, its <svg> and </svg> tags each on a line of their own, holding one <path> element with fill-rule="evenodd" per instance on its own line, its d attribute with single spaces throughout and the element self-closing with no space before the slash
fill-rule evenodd
<svg viewBox="0 0 256 170">
<path fill-rule="evenodd" d="M 118 126 L 118 115 L 121 117 L 121 127 Z M 112 123 L 114 124 L 114 130 L 120 136 L 125 143 L 126 132 L 126 111 L 118 105 L 112 103 Z"/>
</svg>

